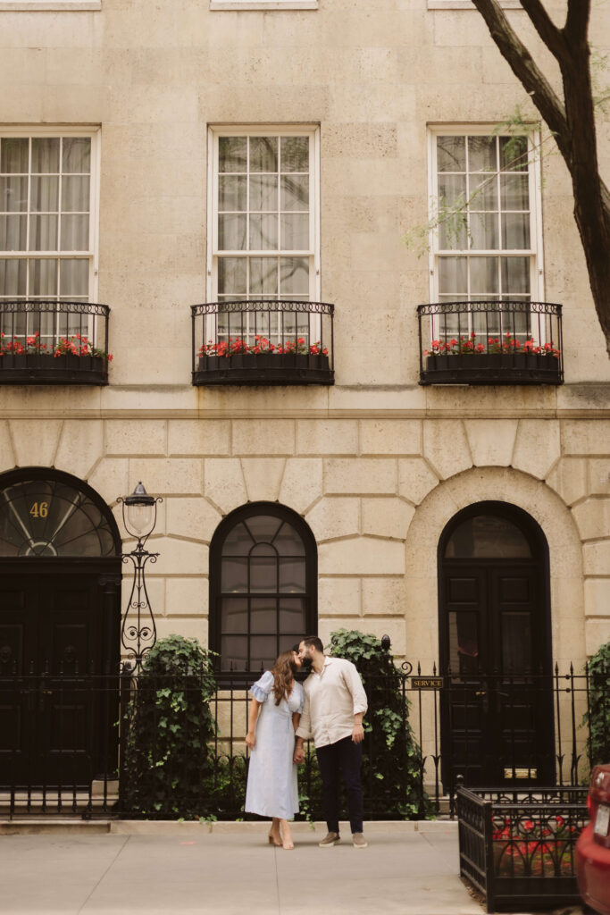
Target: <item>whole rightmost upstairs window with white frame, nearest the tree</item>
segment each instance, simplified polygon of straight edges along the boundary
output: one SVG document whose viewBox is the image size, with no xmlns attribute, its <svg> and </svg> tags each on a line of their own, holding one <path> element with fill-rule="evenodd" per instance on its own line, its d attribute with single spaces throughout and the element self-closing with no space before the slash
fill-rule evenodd
<svg viewBox="0 0 610 915">
<path fill-rule="evenodd" d="M 540 220 L 532 141 L 441 128 L 431 141 L 430 196 L 442 217 L 433 232 L 433 301 L 536 300 Z M 520 317 L 517 330 L 525 334 L 527 309 Z M 472 329 L 483 329 L 475 323 L 473 316 Z"/>
</svg>

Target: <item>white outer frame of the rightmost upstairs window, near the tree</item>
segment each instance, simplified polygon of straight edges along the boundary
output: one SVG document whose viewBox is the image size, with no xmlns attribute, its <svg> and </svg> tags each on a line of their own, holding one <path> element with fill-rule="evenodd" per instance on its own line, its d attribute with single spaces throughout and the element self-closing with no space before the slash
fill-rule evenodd
<svg viewBox="0 0 610 915">
<path fill-rule="evenodd" d="M 491 135 L 495 124 L 428 124 L 428 200 L 429 215 L 433 221 L 438 199 L 436 138 L 437 136 L 472 136 Z M 528 137 L 529 160 L 529 194 L 530 194 L 530 249 L 514 252 L 517 256 L 530 257 L 530 301 L 544 300 L 544 261 L 542 248 L 542 195 L 540 182 L 540 135 L 538 132 Z M 438 302 L 438 257 L 439 231 L 433 228 L 429 237 L 430 301 Z M 462 250 L 451 252 L 459 255 Z M 497 256 L 501 249 L 476 250 L 468 252 L 471 256 Z"/>
</svg>

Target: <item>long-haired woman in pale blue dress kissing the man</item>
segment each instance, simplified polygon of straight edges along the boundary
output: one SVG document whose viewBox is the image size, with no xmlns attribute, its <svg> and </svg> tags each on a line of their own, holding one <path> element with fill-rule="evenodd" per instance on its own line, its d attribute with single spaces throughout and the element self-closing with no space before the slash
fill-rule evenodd
<svg viewBox="0 0 610 915">
<path fill-rule="evenodd" d="M 273 670 L 251 686 L 246 745 L 251 750 L 246 788 L 246 813 L 270 816 L 272 845 L 294 848 L 288 820 L 299 812 L 294 731 L 298 727 L 303 686 L 294 680 L 301 667 L 296 651 L 284 651 Z"/>
</svg>

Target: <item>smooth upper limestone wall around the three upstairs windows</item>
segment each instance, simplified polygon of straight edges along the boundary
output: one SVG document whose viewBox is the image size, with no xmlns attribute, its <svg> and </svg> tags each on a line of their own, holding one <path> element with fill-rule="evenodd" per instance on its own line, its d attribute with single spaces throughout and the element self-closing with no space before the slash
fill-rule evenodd
<svg viewBox="0 0 610 915">
<path fill-rule="evenodd" d="M 210 10 L 209 0 L 99 5 L 0 4 L 0 125 L 101 125 L 97 297 L 112 307 L 112 383 L 189 382 L 188 306 L 206 298 L 209 124 L 320 124 L 320 281 L 337 306 L 337 382 L 415 383 L 414 307 L 430 301 L 429 274 L 401 236 L 428 218 L 427 124 L 493 125 L 518 103 L 533 116 L 476 10 L 427 0 L 268 12 Z M 603 5 L 593 15 L 603 53 L 610 17 Z M 508 16 L 556 76 L 525 16 Z M 605 169 L 607 141 L 601 122 Z M 607 382 L 570 181 L 551 144 L 542 159 L 540 297 L 565 308 L 567 380 Z M 383 358 L 364 359 L 371 349 Z"/>
</svg>

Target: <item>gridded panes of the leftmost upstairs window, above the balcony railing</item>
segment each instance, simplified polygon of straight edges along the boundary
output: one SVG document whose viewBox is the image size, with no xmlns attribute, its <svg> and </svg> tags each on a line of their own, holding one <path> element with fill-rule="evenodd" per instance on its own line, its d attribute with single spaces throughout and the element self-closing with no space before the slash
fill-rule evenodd
<svg viewBox="0 0 610 915">
<path fill-rule="evenodd" d="M 0 137 L 0 299 L 87 302 L 91 137 Z"/>
</svg>

